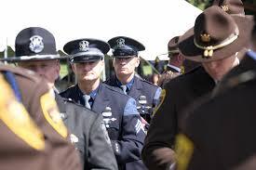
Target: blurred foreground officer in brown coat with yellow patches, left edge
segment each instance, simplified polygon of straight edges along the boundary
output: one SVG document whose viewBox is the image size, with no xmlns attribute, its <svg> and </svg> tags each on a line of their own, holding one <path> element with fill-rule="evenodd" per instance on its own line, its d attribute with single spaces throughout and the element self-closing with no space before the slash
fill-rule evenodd
<svg viewBox="0 0 256 170">
<path fill-rule="evenodd" d="M 80 170 L 47 83 L 3 64 L 0 72 L 1 169 Z"/>
</svg>

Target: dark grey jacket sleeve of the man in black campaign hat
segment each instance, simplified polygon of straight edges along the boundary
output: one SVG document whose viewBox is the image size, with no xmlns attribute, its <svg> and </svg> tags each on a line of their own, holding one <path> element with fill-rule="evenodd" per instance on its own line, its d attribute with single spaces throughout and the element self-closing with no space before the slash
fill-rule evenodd
<svg viewBox="0 0 256 170">
<path fill-rule="evenodd" d="M 88 166 L 91 170 L 117 170 L 115 154 L 111 148 L 110 139 L 101 114 L 98 114 L 90 129 L 88 137 Z"/>
</svg>

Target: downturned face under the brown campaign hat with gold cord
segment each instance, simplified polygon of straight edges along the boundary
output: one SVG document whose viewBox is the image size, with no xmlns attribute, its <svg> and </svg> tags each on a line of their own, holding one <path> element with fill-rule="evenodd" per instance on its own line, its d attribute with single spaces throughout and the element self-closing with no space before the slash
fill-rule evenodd
<svg viewBox="0 0 256 170">
<path fill-rule="evenodd" d="M 236 66 L 236 56 L 230 58 L 219 59 L 209 62 L 203 62 L 202 65 L 206 72 L 214 79 L 220 81 L 222 76 Z M 238 62 L 238 61 L 237 61 Z"/>
</svg>

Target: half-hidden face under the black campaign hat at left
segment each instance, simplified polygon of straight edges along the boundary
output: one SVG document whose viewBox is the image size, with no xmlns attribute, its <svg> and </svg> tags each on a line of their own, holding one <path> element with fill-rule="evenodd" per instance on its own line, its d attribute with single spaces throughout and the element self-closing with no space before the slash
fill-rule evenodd
<svg viewBox="0 0 256 170">
<path fill-rule="evenodd" d="M 31 70 L 47 79 L 49 85 L 53 86 L 54 82 L 60 75 L 60 61 L 55 60 L 40 60 L 40 61 L 24 61 L 18 63 L 22 68 Z"/>
</svg>

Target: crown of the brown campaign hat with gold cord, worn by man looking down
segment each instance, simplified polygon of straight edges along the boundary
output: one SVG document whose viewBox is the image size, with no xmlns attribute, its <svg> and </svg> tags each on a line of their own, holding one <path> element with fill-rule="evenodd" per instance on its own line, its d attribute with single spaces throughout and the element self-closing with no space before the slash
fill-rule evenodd
<svg viewBox="0 0 256 170">
<path fill-rule="evenodd" d="M 232 36 L 238 35 L 236 21 L 220 7 L 209 7 L 195 20 L 195 44 L 219 46 Z"/>
</svg>

